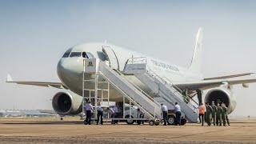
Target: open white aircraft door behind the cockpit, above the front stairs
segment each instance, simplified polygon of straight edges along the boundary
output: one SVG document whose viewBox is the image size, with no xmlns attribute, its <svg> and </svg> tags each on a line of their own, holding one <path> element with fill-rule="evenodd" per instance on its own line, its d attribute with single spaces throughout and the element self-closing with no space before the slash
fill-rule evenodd
<svg viewBox="0 0 256 144">
<path fill-rule="evenodd" d="M 110 62 L 110 67 L 112 69 L 118 69 L 119 70 L 119 63 L 118 58 L 114 54 L 114 50 L 110 48 L 110 46 L 102 46 L 102 51 L 107 55 L 107 59 Z"/>
</svg>

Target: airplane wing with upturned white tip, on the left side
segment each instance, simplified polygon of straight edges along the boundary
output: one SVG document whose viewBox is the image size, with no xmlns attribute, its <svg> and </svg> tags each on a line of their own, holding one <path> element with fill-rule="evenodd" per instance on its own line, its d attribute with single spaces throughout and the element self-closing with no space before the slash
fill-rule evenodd
<svg viewBox="0 0 256 144">
<path fill-rule="evenodd" d="M 7 74 L 6 82 L 12 82 L 12 83 L 17 83 L 20 85 L 32 85 L 32 86 L 52 86 L 58 89 L 68 89 L 62 82 L 18 82 L 18 81 L 13 81 L 13 79 L 10 77 L 10 74 Z"/>
</svg>

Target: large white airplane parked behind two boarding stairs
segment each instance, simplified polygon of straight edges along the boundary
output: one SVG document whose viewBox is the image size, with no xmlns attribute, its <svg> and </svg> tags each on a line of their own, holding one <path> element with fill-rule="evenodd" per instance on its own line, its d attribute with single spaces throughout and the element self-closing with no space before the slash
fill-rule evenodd
<svg viewBox="0 0 256 144">
<path fill-rule="evenodd" d="M 15 82 L 10 75 L 7 75 L 6 82 L 15 82 L 22 85 L 34 86 L 53 86 L 58 89 L 66 89 L 67 92 L 58 92 L 54 94 L 52 106 L 57 114 L 79 114 L 82 112 L 82 62 L 84 58 L 98 58 L 101 61 L 110 62 L 110 67 L 115 70 L 123 71 L 129 58 L 146 57 L 147 66 L 150 70 L 154 70 L 160 77 L 170 79 L 174 85 L 181 90 L 186 90 L 190 96 L 198 95 L 198 102 L 202 102 L 202 90 L 210 89 L 204 101 L 205 102 L 225 102 L 228 107 L 228 113 L 234 111 L 236 107 L 236 98 L 232 92 L 232 86 L 242 84 L 248 87 L 248 83 L 256 82 L 256 78 L 242 78 L 246 74 L 234 74 L 216 78 L 204 78 L 201 73 L 202 66 L 202 28 L 199 28 L 196 37 L 193 58 L 189 68 L 175 66 L 169 62 L 150 58 L 145 54 L 114 46 L 111 44 L 86 43 L 73 46 L 63 54 L 58 62 L 57 72 L 61 82 Z M 87 74 L 86 78 L 94 77 L 93 74 Z M 137 86 L 145 90 L 152 97 L 154 94 L 142 82 L 133 75 L 126 75 Z M 94 84 L 88 84 L 90 88 Z M 110 100 L 119 101 L 122 94 L 114 87 L 110 87 Z"/>
</svg>

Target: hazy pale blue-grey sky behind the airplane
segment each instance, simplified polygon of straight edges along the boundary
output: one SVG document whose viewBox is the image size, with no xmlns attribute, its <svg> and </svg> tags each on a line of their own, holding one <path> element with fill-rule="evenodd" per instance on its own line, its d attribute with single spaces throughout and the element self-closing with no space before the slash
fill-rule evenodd
<svg viewBox="0 0 256 144">
<path fill-rule="evenodd" d="M 198 27 L 207 77 L 256 72 L 254 1 L 0 0 L 0 109 L 51 109 L 58 90 L 6 83 L 60 82 L 56 66 L 71 46 L 107 42 L 188 67 Z M 234 115 L 256 115 L 256 84 L 234 86 Z"/>
</svg>

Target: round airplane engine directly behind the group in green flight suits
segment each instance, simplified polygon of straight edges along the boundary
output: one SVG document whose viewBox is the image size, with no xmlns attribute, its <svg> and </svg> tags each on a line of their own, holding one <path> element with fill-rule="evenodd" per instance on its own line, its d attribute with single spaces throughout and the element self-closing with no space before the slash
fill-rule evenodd
<svg viewBox="0 0 256 144">
<path fill-rule="evenodd" d="M 236 98 L 231 90 L 226 89 L 225 87 L 218 87 L 208 91 L 205 97 L 205 102 L 214 101 L 215 105 L 217 102 L 224 102 L 226 107 L 228 107 L 227 114 L 230 114 L 234 111 L 237 106 Z"/>
</svg>

